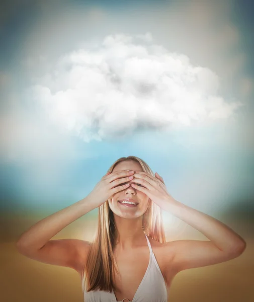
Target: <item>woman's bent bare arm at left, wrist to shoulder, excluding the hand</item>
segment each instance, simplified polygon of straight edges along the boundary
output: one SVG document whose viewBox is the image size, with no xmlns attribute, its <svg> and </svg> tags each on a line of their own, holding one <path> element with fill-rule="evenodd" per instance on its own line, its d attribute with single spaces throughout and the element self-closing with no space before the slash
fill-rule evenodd
<svg viewBox="0 0 254 302">
<path fill-rule="evenodd" d="M 87 198 L 38 221 L 16 243 L 18 251 L 31 259 L 80 271 L 89 242 L 78 239 L 50 240 L 68 224 L 94 209 Z"/>
</svg>

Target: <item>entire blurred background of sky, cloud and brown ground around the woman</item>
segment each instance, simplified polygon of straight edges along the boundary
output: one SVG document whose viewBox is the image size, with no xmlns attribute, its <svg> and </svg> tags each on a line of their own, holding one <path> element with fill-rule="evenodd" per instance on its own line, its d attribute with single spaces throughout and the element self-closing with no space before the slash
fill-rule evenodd
<svg viewBox="0 0 254 302">
<path fill-rule="evenodd" d="M 40 219 L 86 197 L 120 157 L 247 243 L 180 272 L 171 302 L 254 300 L 254 5 L 248 0 L 9 0 L 0 5 L 0 291 L 82 301 L 69 268 L 19 254 Z M 95 209 L 52 239 L 92 240 Z M 163 212 L 167 241 L 206 240 Z"/>
</svg>

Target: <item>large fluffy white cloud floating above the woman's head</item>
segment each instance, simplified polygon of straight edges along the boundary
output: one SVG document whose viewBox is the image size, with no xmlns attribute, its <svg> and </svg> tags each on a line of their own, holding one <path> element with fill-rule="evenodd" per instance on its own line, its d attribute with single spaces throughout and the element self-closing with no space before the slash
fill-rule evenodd
<svg viewBox="0 0 254 302">
<path fill-rule="evenodd" d="M 84 141 L 229 118 L 241 106 L 218 95 L 219 78 L 152 35 L 109 35 L 61 56 L 32 88 L 46 114 Z"/>
</svg>

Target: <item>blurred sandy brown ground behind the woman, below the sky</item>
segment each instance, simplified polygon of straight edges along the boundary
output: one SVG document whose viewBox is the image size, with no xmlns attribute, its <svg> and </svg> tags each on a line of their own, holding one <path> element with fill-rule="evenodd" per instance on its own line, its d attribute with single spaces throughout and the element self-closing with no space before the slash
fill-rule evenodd
<svg viewBox="0 0 254 302">
<path fill-rule="evenodd" d="M 3 220 L 2 220 L 3 221 Z M 17 220 L 16 220 L 17 221 Z M 10 222 L 10 221 L 9 221 Z M 80 238 L 80 223 L 67 226 L 53 239 Z M 90 224 L 89 224 L 90 223 Z M 31 224 L 31 221 L 28 222 Z M 11 224 L 5 224 L 5 226 Z M 91 240 L 94 222 L 87 222 L 86 240 Z M 239 226 L 239 223 L 237 224 Z M 3 226 L 3 225 L 2 225 Z M 230 225 L 232 227 L 232 225 Z M 13 224 L 13 229 L 19 229 Z M 73 229 L 74 228 L 74 229 Z M 2 232 L 3 232 L 3 228 Z M 234 228 L 237 232 L 237 230 Z M 203 268 L 180 272 L 174 279 L 168 301 L 170 302 L 253 302 L 254 301 L 254 234 L 250 236 L 239 226 L 239 234 L 247 242 L 244 253 L 233 260 Z M 254 228 L 252 229 L 254 230 Z M 23 230 L 22 230 L 23 231 Z M 196 230 L 193 237 L 182 232 L 182 237 L 197 239 Z M 10 233 L 10 232 L 9 232 Z M 16 232 L 14 232 L 16 233 Z M 48 265 L 31 260 L 18 253 L 15 247 L 16 236 L 12 240 L 0 243 L 0 300 L 3 302 L 81 302 L 82 290 L 79 275 L 72 269 Z M 191 234 L 191 233 L 190 233 Z M 9 234 L 11 235 L 11 233 Z M 17 234 L 16 234 L 17 235 Z M 71 236 L 72 235 L 72 236 Z M 83 236 L 83 234 L 82 234 Z M 168 236 L 167 236 L 168 237 Z M 192 237 L 192 238 L 191 238 Z M 3 237 L 2 237 L 3 238 Z M 5 238 L 6 239 L 6 238 Z M 175 240 L 175 239 L 174 239 Z"/>
</svg>

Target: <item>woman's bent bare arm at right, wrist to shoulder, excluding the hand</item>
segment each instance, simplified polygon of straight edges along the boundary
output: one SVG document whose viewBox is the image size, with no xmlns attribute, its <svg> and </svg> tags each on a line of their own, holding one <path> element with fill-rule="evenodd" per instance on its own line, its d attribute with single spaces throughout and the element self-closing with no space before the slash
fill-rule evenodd
<svg viewBox="0 0 254 302">
<path fill-rule="evenodd" d="M 176 200 L 168 202 L 166 208 L 210 239 L 166 243 L 165 252 L 173 250 L 173 265 L 178 271 L 228 261 L 244 251 L 245 241 L 221 221 Z"/>
</svg>

